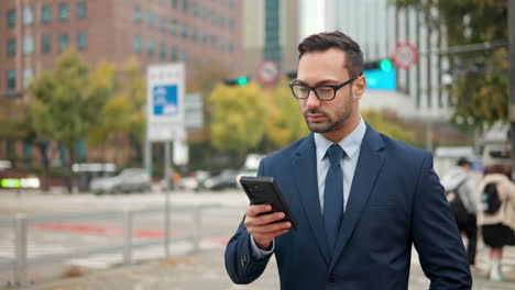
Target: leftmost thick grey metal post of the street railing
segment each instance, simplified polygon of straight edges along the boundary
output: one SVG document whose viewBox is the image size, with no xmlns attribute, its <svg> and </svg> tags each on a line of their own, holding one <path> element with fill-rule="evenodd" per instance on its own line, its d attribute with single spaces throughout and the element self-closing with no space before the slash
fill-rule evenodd
<svg viewBox="0 0 515 290">
<path fill-rule="evenodd" d="M 28 279 L 26 270 L 26 214 L 19 213 L 15 215 L 15 237 L 14 237 L 14 248 L 15 248 L 15 282 L 20 287 L 30 286 Z"/>
</svg>

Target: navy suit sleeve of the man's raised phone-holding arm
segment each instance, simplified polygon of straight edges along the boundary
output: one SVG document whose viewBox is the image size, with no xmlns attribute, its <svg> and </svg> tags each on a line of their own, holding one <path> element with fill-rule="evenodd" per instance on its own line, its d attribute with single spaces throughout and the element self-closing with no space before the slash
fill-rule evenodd
<svg viewBox="0 0 515 290">
<path fill-rule="evenodd" d="M 263 176 L 263 160 L 260 163 L 258 175 Z M 244 221 L 244 217 L 243 217 Z M 234 283 L 250 283 L 258 279 L 266 268 L 269 255 L 258 259 L 251 248 L 251 235 L 241 221 L 237 233 L 231 237 L 226 248 L 226 270 Z"/>
</svg>

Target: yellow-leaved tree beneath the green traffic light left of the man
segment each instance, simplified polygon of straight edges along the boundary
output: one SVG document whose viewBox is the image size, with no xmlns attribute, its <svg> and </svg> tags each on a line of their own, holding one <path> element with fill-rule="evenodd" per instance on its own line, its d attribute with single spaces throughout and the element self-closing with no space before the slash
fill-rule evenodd
<svg viewBox="0 0 515 290">
<path fill-rule="evenodd" d="M 255 147 L 264 136 L 265 99 L 254 85 L 228 87 L 219 85 L 210 94 L 212 105 L 211 143 L 215 148 L 234 153 L 233 166 L 243 154 Z"/>
</svg>

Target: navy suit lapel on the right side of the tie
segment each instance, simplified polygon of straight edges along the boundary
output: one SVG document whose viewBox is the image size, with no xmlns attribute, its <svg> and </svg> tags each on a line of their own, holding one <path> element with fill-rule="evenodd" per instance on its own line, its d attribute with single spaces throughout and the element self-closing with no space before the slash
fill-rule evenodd
<svg viewBox="0 0 515 290">
<path fill-rule="evenodd" d="M 355 167 L 352 187 L 347 202 L 346 213 L 337 241 L 337 248 L 331 261 L 331 268 L 349 242 L 352 231 L 363 212 L 375 179 L 384 163 L 383 142 L 377 132 L 366 125 L 366 133 L 361 144 L 360 156 Z"/>
</svg>

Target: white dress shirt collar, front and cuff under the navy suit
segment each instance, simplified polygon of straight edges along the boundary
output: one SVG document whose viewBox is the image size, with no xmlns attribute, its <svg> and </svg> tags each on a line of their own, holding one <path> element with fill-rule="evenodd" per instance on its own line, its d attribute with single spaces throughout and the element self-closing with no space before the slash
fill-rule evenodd
<svg viewBox="0 0 515 290">
<path fill-rule="evenodd" d="M 341 170 L 343 171 L 343 211 L 349 200 L 350 189 L 352 187 L 352 179 L 354 178 L 355 166 L 360 156 L 361 144 L 363 143 L 366 125 L 363 118 L 360 116 L 360 123 L 349 135 L 338 142 L 340 147 L 346 152 L 346 156 L 340 160 Z M 319 133 L 314 133 L 315 147 L 317 154 L 317 180 L 318 180 L 318 198 L 320 200 L 320 209 L 324 212 L 324 190 L 326 188 L 326 175 L 329 170 L 330 161 L 326 156 L 327 149 L 335 143 L 327 140 Z M 251 236 L 252 254 L 255 258 L 264 258 L 274 252 L 275 243 L 272 243 L 271 250 L 262 250 L 255 244 L 254 238 Z"/>
</svg>

